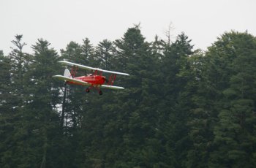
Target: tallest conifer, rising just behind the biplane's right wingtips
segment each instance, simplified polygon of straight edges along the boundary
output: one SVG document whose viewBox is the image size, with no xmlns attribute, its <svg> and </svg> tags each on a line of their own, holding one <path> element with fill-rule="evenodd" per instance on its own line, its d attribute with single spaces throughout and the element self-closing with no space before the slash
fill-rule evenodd
<svg viewBox="0 0 256 168">
<path fill-rule="evenodd" d="M 153 167 L 157 160 L 157 148 L 154 148 L 156 116 L 155 104 L 157 92 L 155 73 L 157 69 L 148 42 L 140 33 L 138 27 L 128 28 L 122 39 L 115 42 L 117 49 L 118 66 L 130 74 L 124 78 L 127 89 L 118 94 L 115 103 L 122 104 L 118 127 L 121 130 L 126 156 L 121 162 L 126 162 L 128 167 Z M 118 68 L 119 69 L 119 68 Z M 152 85 L 153 87 L 151 88 Z M 151 155 L 148 155 L 148 151 Z M 118 164 L 121 164 L 117 162 Z"/>
</svg>

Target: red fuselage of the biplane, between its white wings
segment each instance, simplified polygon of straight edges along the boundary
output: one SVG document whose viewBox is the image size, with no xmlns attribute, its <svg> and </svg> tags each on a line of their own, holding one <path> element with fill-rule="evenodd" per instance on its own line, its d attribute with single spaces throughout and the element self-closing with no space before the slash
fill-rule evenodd
<svg viewBox="0 0 256 168">
<path fill-rule="evenodd" d="M 91 83 L 91 85 L 103 85 L 105 83 L 106 77 L 101 75 L 88 75 L 88 76 L 81 76 L 81 77 L 74 77 L 75 80 L 82 80 L 86 83 Z M 75 82 L 67 82 L 68 84 L 73 85 L 81 85 L 80 83 Z"/>
</svg>

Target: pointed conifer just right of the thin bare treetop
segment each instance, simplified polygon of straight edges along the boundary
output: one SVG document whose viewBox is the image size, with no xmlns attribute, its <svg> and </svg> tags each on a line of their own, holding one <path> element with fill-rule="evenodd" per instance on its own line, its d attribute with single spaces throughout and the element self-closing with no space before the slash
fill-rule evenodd
<svg viewBox="0 0 256 168">
<path fill-rule="evenodd" d="M 170 45 L 164 44 L 162 59 L 162 101 L 159 103 L 157 135 L 162 139 L 162 163 L 181 167 L 187 155 L 187 95 L 185 87 L 188 80 L 184 72 L 189 71 L 189 56 L 192 55 L 191 40 L 182 33 Z M 170 158 L 170 159 L 167 159 Z"/>
</svg>

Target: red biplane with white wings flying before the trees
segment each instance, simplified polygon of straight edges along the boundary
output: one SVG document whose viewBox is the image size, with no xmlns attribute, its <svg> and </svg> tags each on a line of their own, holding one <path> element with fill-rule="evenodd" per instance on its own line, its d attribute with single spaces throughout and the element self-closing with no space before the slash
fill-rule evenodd
<svg viewBox="0 0 256 168">
<path fill-rule="evenodd" d="M 116 80 L 116 75 L 127 75 L 127 73 L 122 72 L 114 72 L 103 70 L 99 68 L 93 68 L 90 66 L 84 66 L 80 64 L 75 64 L 69 61 L 59 61 L 62 65 L 65 66 L 72 66 L 71 73 L 69 69 L 64 70 L 64 75 L 54 75 L 59 80 L 64 80 L 65 84 L 69 85 L 88 85 L 89 87 L 86 88 L 86 92 L 89 93 L 92 88 L 97 89 L 99 95 L 102 95 L 102 91 L 100 88 L 110 88 L 110 89 L 124 89 L 120 86 L 113 85 L 114 81 Z M 89 74 L 86 76 L 75 77 L 76 72 L 80 69 L 92 70 L 94 71 L 93 74 Z M 107 79 L 105 76 L 102 76 L 102 72 L 110 73 L 110 77 Z M 106 85 L 104 85 L 106 83 Z"/>
</svg>

